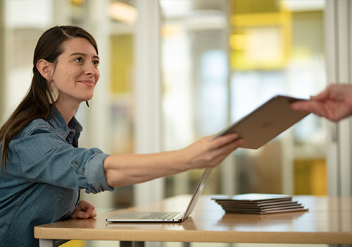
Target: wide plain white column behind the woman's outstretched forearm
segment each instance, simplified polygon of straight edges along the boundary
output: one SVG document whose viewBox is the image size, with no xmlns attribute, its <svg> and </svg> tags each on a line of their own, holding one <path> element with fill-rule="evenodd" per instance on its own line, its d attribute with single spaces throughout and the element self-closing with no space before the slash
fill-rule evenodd
<svg viewBox="0 0 352 247">
<path fill-rule="evenodd" d="M 159 1 L 136 1 L 134 35 L 134 143 L 136 153 L 161 151 L 161 76 Z M 163 179 L 134 186 L 135 205 L 163 198 Z"/>
</svg>

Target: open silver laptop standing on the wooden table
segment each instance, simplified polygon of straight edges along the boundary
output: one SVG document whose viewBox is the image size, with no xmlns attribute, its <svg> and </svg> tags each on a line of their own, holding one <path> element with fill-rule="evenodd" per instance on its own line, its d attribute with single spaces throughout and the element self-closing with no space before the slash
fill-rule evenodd
<svg viewBox="0 0 352 247">
<path fill-rule="evenodd" d="M 191 200 L 184 212 L 120 212 L 113 217 L 107 218 L 108 222 L 183 222 L 187 219 L 196 206 L 196 202 L 203 191 L 204 185 L 211 173 L 211 168 L 206 168 L 194 190 Z"/>
</svg>

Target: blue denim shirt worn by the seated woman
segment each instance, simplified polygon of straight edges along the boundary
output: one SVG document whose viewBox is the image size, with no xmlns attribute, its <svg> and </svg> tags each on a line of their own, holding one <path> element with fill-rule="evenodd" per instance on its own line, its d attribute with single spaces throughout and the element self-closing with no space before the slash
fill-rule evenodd
<svg viewBox="0 0 352 247">
<path fill-rule="evenodd" d="M 8 145 L 7 176 L 0 172 L 0 246 L 38 246 L 34 226 L 62 221 L 77 207 L 79 190 L 113 191 L 97 148 L 79 148 L 82 126 L 66 125 L 56 109 L 36 119 Z M 1 147 L 1 145 L 0 145 Z"/>
</svg>

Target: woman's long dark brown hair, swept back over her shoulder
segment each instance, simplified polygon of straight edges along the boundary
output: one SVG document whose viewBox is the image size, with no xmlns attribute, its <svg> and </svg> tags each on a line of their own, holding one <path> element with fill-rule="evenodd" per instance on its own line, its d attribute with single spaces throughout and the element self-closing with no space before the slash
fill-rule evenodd
<svg viewBox="0 0 352 247">
<path fill-rule="evenodd" d="M 37 47 L 34 50 L 33 56 L 33 78 L 30 89 L 22 102 L 15 109 L 13 114 L 8 118 L 0 128 L 0 144 L 1 148 L 1 167 L 6 174 L 6 160 L 8 160 L 8 144 L 25 126 L 34 119 L 45 119 L 49 117 L 51 105 L 46 96 L 49 90 L 49 82 L 39 73 L 37 62 L 40 59 L 45 59 L 56 65 L 58 56 L 60 56 L 65 47 L 63 43 L 66 40 L 71 40 L 77 37 L 88 40 L 98 54 L 98 47 L 94 37 L 86 30 L 75 26 L 56 26 L 50 28 L 43 33 L 37 42 Z M 53 97 L 51 102 L 54 102 Z M 55 107 L 54 107 L 55 108 Z"/>
</svg>

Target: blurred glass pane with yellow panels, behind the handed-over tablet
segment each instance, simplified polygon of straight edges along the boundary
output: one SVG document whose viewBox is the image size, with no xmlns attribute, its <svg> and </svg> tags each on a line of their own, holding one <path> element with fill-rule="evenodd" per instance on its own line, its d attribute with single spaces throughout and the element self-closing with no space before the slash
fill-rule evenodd
<svg viewBox="0 0 352 247">
<path fill-rule="evenodd" d="M 324 2 L 311 4 L 232 1 L 232 121 L 274 95 L 325 88 Z M 311 115 L 259 150 L 241 150 L 240 192 L 325 195 L 325 133 Z"/>
</svg>

